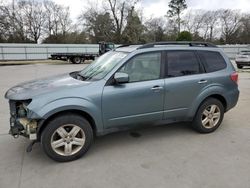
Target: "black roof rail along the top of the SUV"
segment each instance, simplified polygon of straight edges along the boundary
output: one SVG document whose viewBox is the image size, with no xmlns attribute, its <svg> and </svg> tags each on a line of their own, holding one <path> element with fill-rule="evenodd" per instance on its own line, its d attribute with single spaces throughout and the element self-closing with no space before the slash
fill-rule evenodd
<svg viewBox="0 0 250 188">
<path fill-rule="evenodd" d="M 196 42 L 196 41 L 167 41 L 167 42 L 155 42 L 155 43 L 148 43 L 143 46 L 140 46 L 137 49 L 144 49 L 144 48 L 153 48 L 157 45 L 189 45 L 192 47 L 213 47 L 217 48 L 216 45 L 211 44 L 209 42 Z"/>
</svg>

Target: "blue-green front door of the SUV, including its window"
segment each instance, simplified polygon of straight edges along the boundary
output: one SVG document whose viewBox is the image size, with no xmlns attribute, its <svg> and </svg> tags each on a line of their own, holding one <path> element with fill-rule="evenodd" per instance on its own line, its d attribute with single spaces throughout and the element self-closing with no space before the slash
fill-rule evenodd
<svg viewBox="0 0 250 188">
<path fill-rule="evenodd" d="M 129 75 L 129 83 L 104 87 L 102 111 L 105 128 L 162 120 L 164 79 L 161 78 L 161 52 L 136 55 L 119 72 Z"/>
</svg>

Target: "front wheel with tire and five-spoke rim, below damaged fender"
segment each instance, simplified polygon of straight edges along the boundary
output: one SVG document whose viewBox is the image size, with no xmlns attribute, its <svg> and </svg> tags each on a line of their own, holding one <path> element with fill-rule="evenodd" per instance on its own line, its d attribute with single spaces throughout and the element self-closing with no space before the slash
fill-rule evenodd
<svg viewBox="0 0 250 188">
<path fill-rule="evenodd" d="M 51 120 L 42 132 L 44 152 L 58 162 L 82 157 L 93 142 L 93 129 L 83 117 L 63 114 Z"/>
</svg>

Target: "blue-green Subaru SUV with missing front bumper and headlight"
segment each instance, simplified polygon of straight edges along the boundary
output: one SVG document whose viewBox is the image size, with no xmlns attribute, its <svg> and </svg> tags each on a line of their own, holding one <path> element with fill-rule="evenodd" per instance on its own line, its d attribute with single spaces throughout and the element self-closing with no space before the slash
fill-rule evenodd
<svg viewBox="0 0 250 188">
<path fill-rule="evenodd" d="M 138 125 L 192 122 L 215 131 L 238 101 L 238 74 L 210 43 L 121 46 L 81 71 L 9 89 L 10 134 L 41 142 L 55 161 L 83 156 L 94 136 Z"/>
</svg>

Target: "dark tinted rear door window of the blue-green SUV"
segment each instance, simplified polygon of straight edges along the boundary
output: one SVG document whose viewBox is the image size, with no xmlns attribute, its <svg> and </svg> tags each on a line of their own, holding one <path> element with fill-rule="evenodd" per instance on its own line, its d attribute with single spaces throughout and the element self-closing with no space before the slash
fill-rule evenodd
<svg viewBox="0 0 250 188">
<path fill-rule="evenodd" d="M 199 62 L 194 52 L 168 51 L 167 52 L 167 76 L 185 76 L 200 73 Z"/>
</svg>

